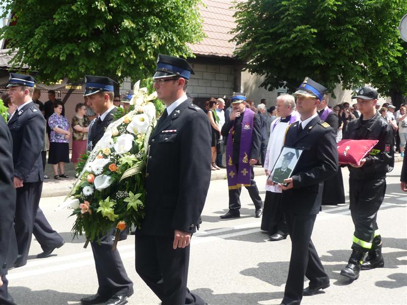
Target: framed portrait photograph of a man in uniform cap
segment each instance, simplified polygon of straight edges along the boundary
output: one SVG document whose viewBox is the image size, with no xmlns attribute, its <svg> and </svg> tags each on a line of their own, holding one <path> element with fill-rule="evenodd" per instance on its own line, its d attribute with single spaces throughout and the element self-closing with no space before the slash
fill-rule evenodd
<svg viewBox="0 0 407 305">
<path fill-rule="evenodd" d="M 284 179 L 291 177 L 301 154 L 302 149 L 284 146 L 268 179 L 274 183 L 284 184 Z"/>
</svg>

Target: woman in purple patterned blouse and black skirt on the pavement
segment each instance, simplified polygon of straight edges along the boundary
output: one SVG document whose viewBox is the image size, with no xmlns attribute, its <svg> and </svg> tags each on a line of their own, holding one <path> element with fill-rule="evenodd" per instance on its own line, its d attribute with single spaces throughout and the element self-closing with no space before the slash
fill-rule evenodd
<svg viewBox="0 0 407 305">
<path fill-rule="evenodd" d="M 51 129 L 49 136 L 48 164 L 52 164 L 54 179 L 68 178 L 65 174 L 65 164 L 69 163 L 69 123 L 62 113 L 61 101 L 53 103 L 54 113 L 48 118 L 48 126 Z M 58 168 L 60 173 L 58 173 Z"/>
</svg>

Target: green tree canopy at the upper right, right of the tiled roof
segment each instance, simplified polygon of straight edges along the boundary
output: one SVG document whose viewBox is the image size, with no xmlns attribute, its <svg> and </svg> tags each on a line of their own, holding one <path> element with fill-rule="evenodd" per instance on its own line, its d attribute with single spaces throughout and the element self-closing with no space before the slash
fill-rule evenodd
<svg viewBox="0 0 407 305">
<path fill-rule="evenodd" d="M 290 92 L 305 76 L 333 90 L 369 79 L 372 52 L 383 50 L 383 26 L 403 0 L 252 0 L 237 5 L 236 54 L 269 90 Z M 380 18 L 379 18 L 380 17 Z M 390 22 L 387 22 L 390 24 Z M 396 27 L 398 24 L 395 24 Z"/>
</svg>

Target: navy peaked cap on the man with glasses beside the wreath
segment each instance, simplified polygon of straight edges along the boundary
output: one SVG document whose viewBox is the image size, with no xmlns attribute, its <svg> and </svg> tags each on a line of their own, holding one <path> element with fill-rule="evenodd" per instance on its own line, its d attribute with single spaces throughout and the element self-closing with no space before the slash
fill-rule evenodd
<svg viewBox="0 0 407 305">
<path fill-rule="evenodd" d="M 158 54 L 156 73 L 153 78 L 182 77 L 189 79 L 195 74 L 191 65 L 184 59 L 164 54 Z"/>
</svg>

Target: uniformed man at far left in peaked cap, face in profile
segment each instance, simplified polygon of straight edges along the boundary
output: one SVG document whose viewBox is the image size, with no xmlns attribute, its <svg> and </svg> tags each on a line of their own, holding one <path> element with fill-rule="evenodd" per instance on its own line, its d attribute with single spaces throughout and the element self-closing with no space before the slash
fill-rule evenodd
<svg viewBox="0 0 407 305">
<path fill-rule="evenodd" d="M 10 73 L 7 85 L 10 99 L 17 105 L 8 121 L 13 138 L 14 187 L 17 189 L 15 230 L 18 257 L 15 266 L 27 263 L 44 180 L 41 150 L 45 119 L 32 100 L 35 83 L 30 75 Z"/>
</svg>

